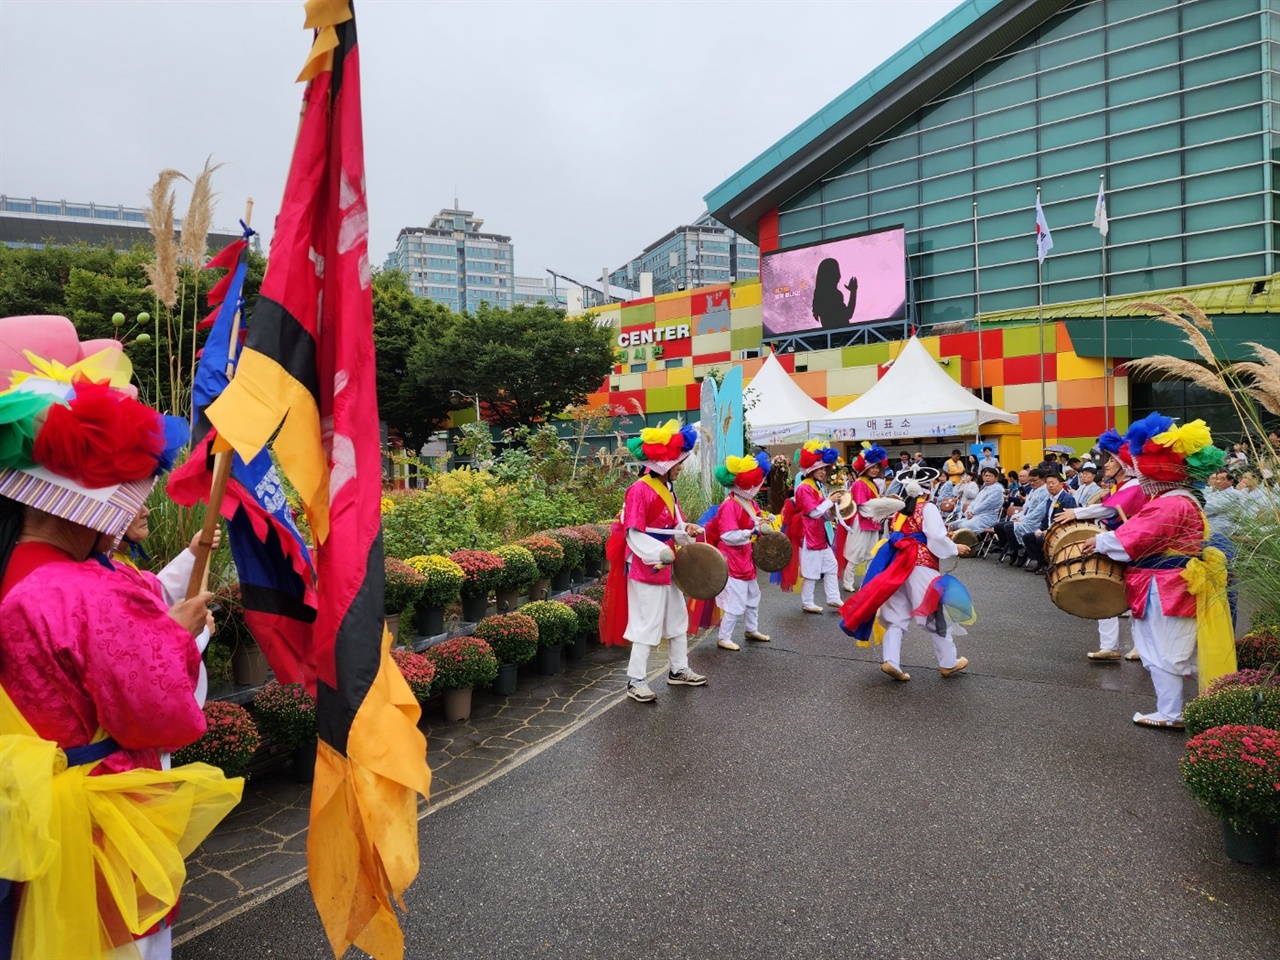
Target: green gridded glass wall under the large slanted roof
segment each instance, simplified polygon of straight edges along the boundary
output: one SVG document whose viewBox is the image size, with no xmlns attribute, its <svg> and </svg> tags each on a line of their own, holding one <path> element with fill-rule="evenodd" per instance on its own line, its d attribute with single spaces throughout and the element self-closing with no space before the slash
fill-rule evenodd
<svg viewBox="0 0 1280 960">
<path fill-rule="evenodd" d="M 1038 187 L 1046 305 L 1267 278 L 1276 41 L 1276 0 L 1075 0 L 780 202 L 776 246 L 901 224 L 918 325 L 1034 311 Z"/>
</svg>

